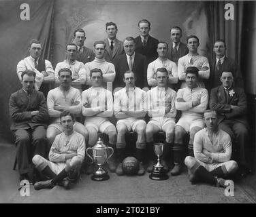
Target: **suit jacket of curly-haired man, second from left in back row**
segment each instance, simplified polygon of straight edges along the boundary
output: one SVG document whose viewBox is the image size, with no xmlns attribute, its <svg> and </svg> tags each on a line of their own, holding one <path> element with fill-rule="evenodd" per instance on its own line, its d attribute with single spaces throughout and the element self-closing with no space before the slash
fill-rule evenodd
<svg viewBox="0 0 256 217">
<path fill-rule="evenodd" d="M 117 56 L 124 54 L 125 51 L 123 50 L 123 41 L 119 41 L 116 39 L 113 51 L 110 49 L 110 44 L 108 43 L 108 39 L 105 39 L 104 42 L 106 43 L 106 52 L 104 54 L 104 58 L 108 62 L 114 62 Z"/>
</svg>

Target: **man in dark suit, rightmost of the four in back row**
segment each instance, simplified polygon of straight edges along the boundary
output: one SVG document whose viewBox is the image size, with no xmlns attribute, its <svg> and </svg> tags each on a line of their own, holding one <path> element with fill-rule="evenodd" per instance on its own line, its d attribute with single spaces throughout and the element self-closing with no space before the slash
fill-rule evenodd
<svg viewBox="0 0 256 217">
<path fill-rule="evenodd" d="M 178 59 L 187 55 L 189 53 L 189 49 L 185 43 L 180 42 L 182 37 L 182 30 L 180 27 L 174 26 L 171 28 L 170 32 L 172 45 L 170 46 L 170 50 L 168 52 L 168 59 L 178 64 Z"/>
</svg>

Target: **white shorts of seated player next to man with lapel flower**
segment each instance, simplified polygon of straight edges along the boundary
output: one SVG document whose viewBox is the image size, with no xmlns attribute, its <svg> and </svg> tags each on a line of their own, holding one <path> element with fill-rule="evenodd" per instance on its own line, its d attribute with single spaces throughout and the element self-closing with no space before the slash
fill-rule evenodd
<svg viewBox="0 0 256 217">
<path fill-rule="evenodd" d="M 200 127 L 203 129 L 205 124 L 202 117 L 183 116 L 180 117 L 176 126 L 182 127 L 187 133 L 189 133 L 193 127 Z"/>
</svg>

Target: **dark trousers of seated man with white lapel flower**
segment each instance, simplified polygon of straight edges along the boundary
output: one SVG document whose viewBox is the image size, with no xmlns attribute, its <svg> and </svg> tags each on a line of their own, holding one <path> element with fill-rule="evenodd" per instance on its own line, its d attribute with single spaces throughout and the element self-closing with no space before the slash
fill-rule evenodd
<svg viewBox="0 0 256 217">
<path fill-rule="evenodd" d="M 249 133 L 246 125 L 232 120 L 224 120 L 219 124 L 221 130 L 224 130 L 229 134 L 232 141 L 232 149 L 236 149 L 238 152 L 238 163 L 240 165 L 249 165 L 249 156 L 246 153 L 247 145 L 249 144 Z"/>
</svg>

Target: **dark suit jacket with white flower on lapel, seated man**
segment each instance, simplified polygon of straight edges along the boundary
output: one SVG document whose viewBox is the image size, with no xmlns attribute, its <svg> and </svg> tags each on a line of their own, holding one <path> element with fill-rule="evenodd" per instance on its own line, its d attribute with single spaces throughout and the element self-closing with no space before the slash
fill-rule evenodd
<svg viewBox="0 0 256 217">
<path fill-rule="evenodd" d="M 227 97 L 223 85 L 213 88 L 210 92 L 210 109 L 217 112 L 219 122 L 232 119 L 247 125 L 247 102 L 244 90 L 240 87 L 231 87 L 229 92 L 232 92 L 232 90 L 234 92 L 233 96 L 229 94 Z M 231 109 L 231 105 L 238 106 L 238 108 Z"/>
</svg>

